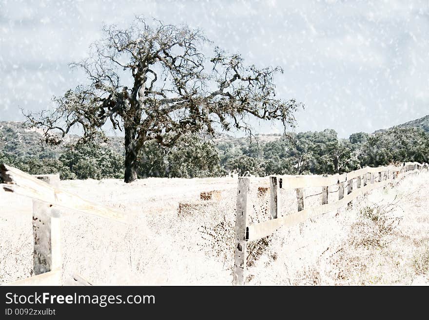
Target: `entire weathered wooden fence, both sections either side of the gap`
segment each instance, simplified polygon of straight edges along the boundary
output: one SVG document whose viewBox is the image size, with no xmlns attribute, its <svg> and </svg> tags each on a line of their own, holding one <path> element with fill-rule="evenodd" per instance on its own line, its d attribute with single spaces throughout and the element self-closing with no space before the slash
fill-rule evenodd
<svg viewBox="0 0 429 320">
<path fill-rule="evenodd" d="M 246 244 L 272 234 L 281 226 L 293 226 L 307 219 L 331 212 L 350 204 L 356 197 L 372 189 L 394 183 L 402 177 L 428 169 L 428 164 L 404 163 L 402 167 L 364 168 L 341 175 L 317 176 L 270 176 L 271 219 L 247 225 L 247 211 L 250 205 L 249 178 L 239 177 L 234 244 L 234 285 L 245 282 Z M 5 182 L 0 188 L 33 199 L 33 272 L 34 276 L 9 283 L 9 285 L 60 285 L 61 281 L 61 239 L 59 209 L 78 211 L 102 218 L 126 222 L 124 215 L 78 195 L 59 188 L 59 175 L 31 176 L 19 169 L 0 164 L 0 177 Z M 356 189 L 353 189 L 356 180 Z M 345 184 L 347 194 L 345 195 Z M 338 185 L 338 201 L 328 203 L 329 187 Z M 304 188 L 320 187 L 321 205 L 305 208 Z M 284 215 L 280 207 L 280 189 L 296 189 L 297 210 Z M 73 275 L 77 284 L 90 285 L 78 274 Z"/>
</svg>

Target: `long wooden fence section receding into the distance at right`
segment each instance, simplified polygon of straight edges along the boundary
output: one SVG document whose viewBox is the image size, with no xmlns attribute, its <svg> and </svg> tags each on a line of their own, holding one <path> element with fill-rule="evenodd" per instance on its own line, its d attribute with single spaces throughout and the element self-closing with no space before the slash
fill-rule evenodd
<svg viewBox="0 0 429 320">
<path fill-rule="evenodd" d="M 271 219 L 247 225 L 247 212 L 249 201 L 249 178 L 239 177 L 237 188 L 237 207 L 235 221 L 234 243 L 234 274 L 233 284 L 244 285 L 246 268 L 246 245 L 273 234 L 282 226 L 294 226 L 312 217 L 335 211 L 345 207 L 358 196 L 366 194 L 372 189 L 396 183 L 404 176 L 428 169 L 428 164 L 407 162 L 401 167 L 388 166 L 378 168 L 363 168 L 344 174 L 331 176 L 300 175 L 300 176 L 270 176 L 270 213 Z M 356 189 L 353 189 L 353 180 L 356 180 Z M 346 188 L 347 183 L 347 190 Z M 328 203 L 329 187 L 338 186 L 338 200 Z M 321 188 L 321 205 L 306 208 L 304 204 L 304 188 Z M 280 207 L 280 189 L 295 189 L 297 210 L 285 215 Z M 346 194 L 345 194 L 346 191 Z"/>
</svg>

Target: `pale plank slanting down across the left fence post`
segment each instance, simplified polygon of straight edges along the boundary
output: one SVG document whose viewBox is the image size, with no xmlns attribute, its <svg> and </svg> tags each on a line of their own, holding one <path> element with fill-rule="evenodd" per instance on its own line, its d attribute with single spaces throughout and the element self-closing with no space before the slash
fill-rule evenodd
<svg viewBox="0 0 429 320">
<path fill-rule="evenodd" d="M 0 165 L 0 175 L 6 182 L 6 184 L 1 184 L 0 186 L 5 191 L 14 192 L 69 210 L 92 214 L 119 222 L 127 221 L 126 217 L 121 212 L 84 200 L 76 194 L 50 186 L 19 169 Z"/>
</svg>

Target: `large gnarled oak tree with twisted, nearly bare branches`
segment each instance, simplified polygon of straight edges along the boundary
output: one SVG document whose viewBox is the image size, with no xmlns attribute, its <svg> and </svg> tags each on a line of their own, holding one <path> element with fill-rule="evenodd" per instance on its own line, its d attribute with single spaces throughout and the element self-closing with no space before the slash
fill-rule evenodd
<svg viewBox="0 0 429 320">
<path fill-rule="evenodd" d="M 104 39 L 90 56 L 72 67 L 82 69 L 88 85 L 56 97 L 53 111 L 27 114 L 44 131 L 44 142 L 59 144 L 74 126 L 82 140 L 106 138 L 110 122 L 125 136 L 125 182 L 137 179 L 137 155 L 145 141 L 172 146 L 187 132 L 214 134 L 234 126 L 252 134 L 249 119 L 280 120 L 293 126 L 295 100 L 275 97 L 273 75 L 281 68 L 245 66 L 240 55 L 213 48 L 188 26 L 153 26 L 136 18 L 127 29 L 103 26 Z M 212 48 L 213 55 L 204 54 Z"/>
</svg>

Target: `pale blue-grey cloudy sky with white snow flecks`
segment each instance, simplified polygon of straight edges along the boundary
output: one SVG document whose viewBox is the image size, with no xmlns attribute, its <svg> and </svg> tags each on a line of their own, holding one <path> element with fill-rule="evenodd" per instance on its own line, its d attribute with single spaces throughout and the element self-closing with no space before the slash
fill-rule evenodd
<svg viewBox="0 0 429 320">
<path fill-rule="evenodd" d="M 279 95 L 306 106 L 296 131 L 347 137 L 429 114 L 428 0 L 0 0 L 0 121 L 84 82 L 68 63 L 87 55 L 103 22 L 126 27 L 136 15 L 199 27 L 248 63 L 282 66 Z"/>
</svg>

